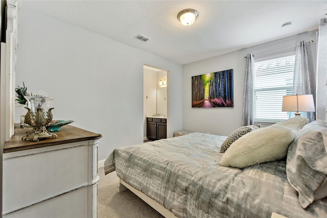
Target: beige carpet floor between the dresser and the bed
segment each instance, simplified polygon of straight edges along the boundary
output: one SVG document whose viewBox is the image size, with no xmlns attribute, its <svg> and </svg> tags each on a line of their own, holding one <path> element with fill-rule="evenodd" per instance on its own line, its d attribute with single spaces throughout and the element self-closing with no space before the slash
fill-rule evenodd
<svg viewBox="0 0 327 218">
<path fill-rule="evenodd" d="M 98 174 L 98 218 L 164 217 L 130 190 L 119 193 L 119 178 L 115 171 L 104 176 L 101 167 Z"/>
</svg>

